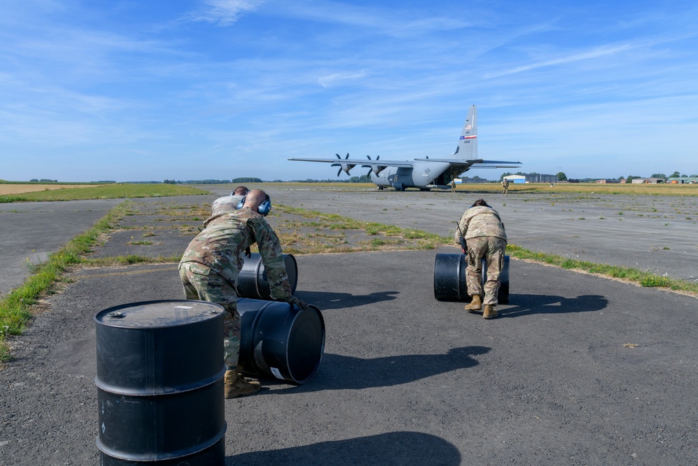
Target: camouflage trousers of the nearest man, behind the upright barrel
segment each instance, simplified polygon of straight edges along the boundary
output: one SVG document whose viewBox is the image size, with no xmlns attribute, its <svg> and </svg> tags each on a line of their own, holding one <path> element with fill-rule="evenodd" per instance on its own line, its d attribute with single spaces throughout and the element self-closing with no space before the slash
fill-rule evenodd
<svg viewBox="0 0 698 466">
<path fill-rule="evenodd" d="M 220 304 L 223 316 L 223 361 L 228 369 L 237 368 L 240 355 L 240 314 L 237 313 L 237 292 L 225 278 L 198 262 L 179 266 L 179 279 L 184 298 Z"/>
</svg>

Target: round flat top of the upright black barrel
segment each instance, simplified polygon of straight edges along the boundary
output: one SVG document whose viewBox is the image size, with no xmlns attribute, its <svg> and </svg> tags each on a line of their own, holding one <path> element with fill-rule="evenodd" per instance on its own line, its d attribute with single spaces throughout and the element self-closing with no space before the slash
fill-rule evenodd
<svg viewBox="0 0 698 466">
<path fill-rule="evenodd" d="M 110 307 L 94 316 L 97 323 L 121 328 L 158 328 L 188 325 L 215 319 L 225 309 L 197 300 L 142 301 Z"/>
</svg>

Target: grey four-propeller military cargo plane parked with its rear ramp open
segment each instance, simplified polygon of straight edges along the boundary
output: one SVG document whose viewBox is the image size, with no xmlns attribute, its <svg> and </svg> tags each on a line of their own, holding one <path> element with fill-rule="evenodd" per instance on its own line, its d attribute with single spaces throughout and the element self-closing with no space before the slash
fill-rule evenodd
<svg viewBox="0 0 698 466">
<path fill-rule="evenodd" d="M 371 156 L 364 159 L 350 159 L 349 154 L 341 158 L 335 154 L 336 159 L 288 159 L 304 162 L 325 162 L 338 166 L 337 176 L 342 171 L 349 175 L 349 170 L 355 166 L 371 168 L 368 175 L 371 182 L 378 189 L 393 187 L 396 191 L 405 191 L 406 188 L 419 188 L 420 191 L 429 191 L 432 188 L 448 189 L 449 183 L 470 168 L 518 168 L 521 162 L 509 162 L 498 160 L 482 160 L 477 158 L 477 108 L 475 105 L 468 110 L 466 123 L 463 125 L 461 137 L 458 140 L 456 151 L 446 159 L 413 160 L 372 160 Z"/>
</svg>

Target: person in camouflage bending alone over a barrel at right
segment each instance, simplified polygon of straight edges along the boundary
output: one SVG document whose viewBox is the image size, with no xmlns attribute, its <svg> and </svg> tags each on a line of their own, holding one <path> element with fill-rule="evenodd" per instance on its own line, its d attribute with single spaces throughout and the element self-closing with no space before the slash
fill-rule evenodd
<svg viewBox="0 0 698 466">
<path fill-rule="evenodd" d="M 466 284 L 468 294 L 473 298 L 466 305 L 467 311 L 482 309 L 482 258 L 487 260 L 487 281 L 484 284 L 485 319 L 494 319 L 498 312 L 495 309 L 499 292 L 499 274 L 504 266 L 507 233 L 499 214 L 487 205 L 484 199 L 478 199 L 461 217 L 456 228 L 456 243 L 461 244 L 461 238 L 466 240 Z"/>
</svg>

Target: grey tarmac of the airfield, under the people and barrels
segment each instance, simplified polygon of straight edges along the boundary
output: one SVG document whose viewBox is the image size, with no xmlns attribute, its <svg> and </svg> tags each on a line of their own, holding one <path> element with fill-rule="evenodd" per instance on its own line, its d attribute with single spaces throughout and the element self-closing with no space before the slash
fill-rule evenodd
<svg viewBox="0 0 698 466">
<path fill-rule="evenodd" d="M 159 226 L 157 244 L 129 245 L 119 232 L 94 255 L 181 253 L 193 233 L 182 233 L 186 222 L 161 226 L 157 206 L 228 194 L 212 191 L 138 199 L 142 214 L 128 221 Z M 484 197 L 512 244 L 695 279 L 694 198 L 268 191 L 273 203 L 441 235 Z M 40 206 L 0 206 L 0 224 L 21 214 L 33 220 L 23 228 L 46 224 L 31 213 Z M 76 215 L 75 231 L 96 219 Z M 225 464 L 698 464 L 697 298 L 512 259 L 510 304 L 490 321 L 434 299 L 434 257 L 456 251 L 296 256 L 296 295 L 325 319 L 322 363 L 307 384 L 264 378 L 258 395 L 225 401 Z M 70 278 L 11 340 L 15 358 L 0 370 L 3 465 L 99 464 L 94 315 L 182 298 L 174 264 Z"/>
</svg>

